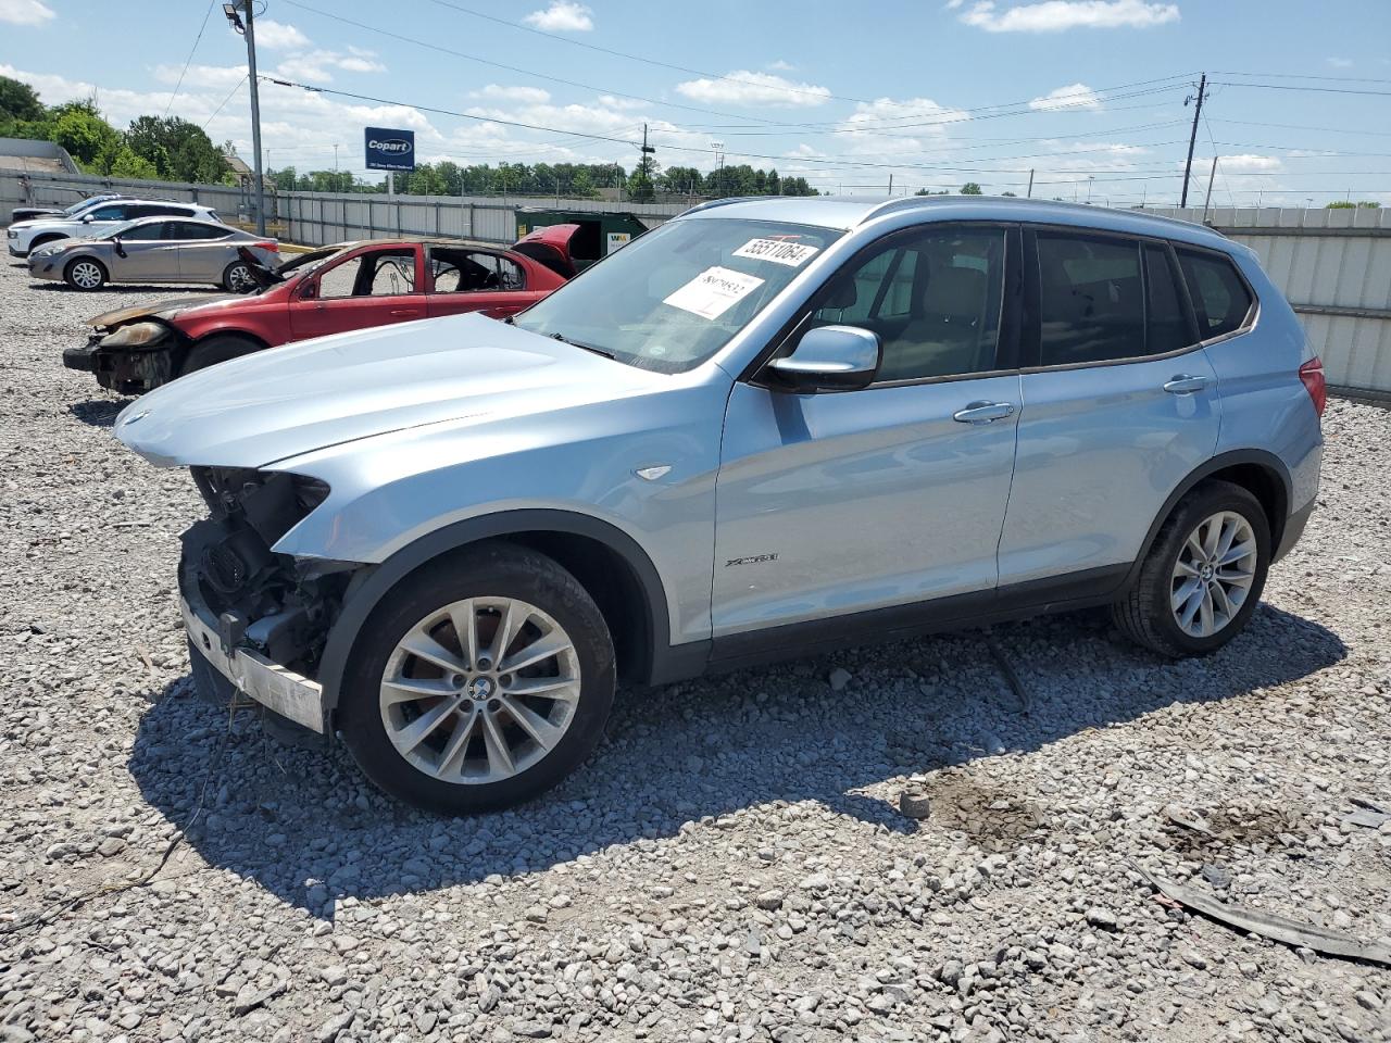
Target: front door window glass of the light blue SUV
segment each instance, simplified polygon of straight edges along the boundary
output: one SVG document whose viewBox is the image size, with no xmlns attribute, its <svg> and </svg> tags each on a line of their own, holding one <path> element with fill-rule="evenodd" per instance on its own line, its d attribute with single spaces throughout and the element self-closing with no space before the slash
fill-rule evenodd
<svg viewBox="0 0 1391 1043">
<path fill-rule="evenodd" d="M 996 367 L 1003 228 L 936 225 L 872 248 L 823 291 L 814 325 L 854 325 L 883 345 L 881 382 Z"/>
</svg>

